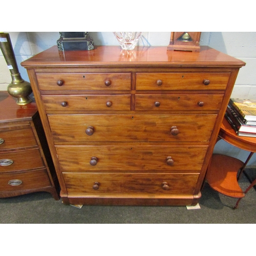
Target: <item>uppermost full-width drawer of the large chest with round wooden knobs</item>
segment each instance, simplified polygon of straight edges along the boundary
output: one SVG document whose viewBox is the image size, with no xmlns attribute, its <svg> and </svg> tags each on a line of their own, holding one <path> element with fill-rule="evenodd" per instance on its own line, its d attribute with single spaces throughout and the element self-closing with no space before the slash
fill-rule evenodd
<svg viewBox="0 0 256 256">
<path fill-rule="evenodd" d="M 208 142 L 217 115 L 48 115 L 54 142 Z"/>
</svg>

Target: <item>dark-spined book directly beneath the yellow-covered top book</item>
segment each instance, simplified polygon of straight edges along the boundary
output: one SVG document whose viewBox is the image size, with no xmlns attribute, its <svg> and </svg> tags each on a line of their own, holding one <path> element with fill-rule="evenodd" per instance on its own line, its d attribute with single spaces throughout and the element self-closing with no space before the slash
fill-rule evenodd
<svg viewBox="0 0 256 256">
<path fill-rule="evenodd" d="M 232 126 L 233 130 L 239 135 L 239 133 L 253 133 L 256 134 L 256 126 L 248 125 L 233 111 L 230 105 L 227 106 L 225 118 Z"/>
</svg>

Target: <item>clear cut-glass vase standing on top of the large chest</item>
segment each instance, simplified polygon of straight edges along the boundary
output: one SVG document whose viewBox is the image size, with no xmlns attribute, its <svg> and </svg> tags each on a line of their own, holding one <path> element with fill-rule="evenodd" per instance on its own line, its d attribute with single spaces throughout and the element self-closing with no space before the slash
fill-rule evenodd
<svg viewBox="0 0 256 256">
<path fill-rule="evenodd" d="M 113 32 L 123 50 L 133 50 L 143 32 Z"/>
</svg>

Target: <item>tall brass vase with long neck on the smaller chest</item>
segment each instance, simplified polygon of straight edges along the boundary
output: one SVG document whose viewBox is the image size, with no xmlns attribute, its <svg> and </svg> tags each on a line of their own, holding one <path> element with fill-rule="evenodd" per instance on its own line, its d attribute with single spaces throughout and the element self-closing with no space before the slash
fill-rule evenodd
<svg viewBox="0 0 256 256">
<path fill-rule="evenodd" d="M 18 105 L 26 105 L 32 102 L 32 99 L 29 98 L 29 95 L 32 93 L 31 85 L 29 82 L 23 80 L 22 76 L 20 76 L 10 35 L 8 33 L 0 33 L 0 48 L 12 77 L 12 82 L 7 88 L 8 93 L 17 98 L 16 103 Z"/>
</svg>

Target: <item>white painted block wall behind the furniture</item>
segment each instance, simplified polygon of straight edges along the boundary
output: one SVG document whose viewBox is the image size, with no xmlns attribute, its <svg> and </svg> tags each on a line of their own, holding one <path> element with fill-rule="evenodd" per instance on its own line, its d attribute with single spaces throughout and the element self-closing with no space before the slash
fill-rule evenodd
<svg viewBox="0 0 256 256">
<path fill-rule="evenodd" d="M 6 32 L 10 34 L 19 72 L 29 81 L 27 71 L 20 62 L 56 45 L 59 32 Z M 94 44 L 118 45 L 112 32 L 90 32 Z M 167 46 L 170 32 L 144 32 L 140 46 Z M 215 48 L 246 62 L 238 75 L 232 97 L 256 99 L 256 32 L 202 32 L 200 45 Z M 0 91 L 6 91 L 11 82 L 10 71 L 0 51 Z M 248 152 L 238 150 L 224 141 L 219 141 L 215 153 L 230 155 L 245 161 Z M 256 154 L 249 165 L 256 165 Z"/>
</svg>

